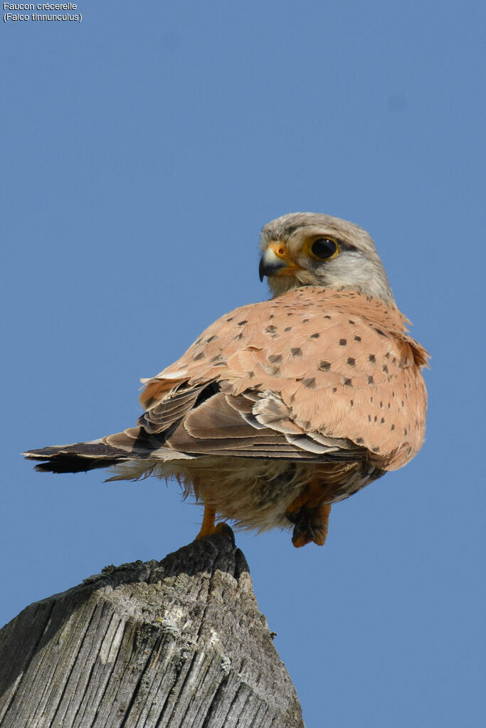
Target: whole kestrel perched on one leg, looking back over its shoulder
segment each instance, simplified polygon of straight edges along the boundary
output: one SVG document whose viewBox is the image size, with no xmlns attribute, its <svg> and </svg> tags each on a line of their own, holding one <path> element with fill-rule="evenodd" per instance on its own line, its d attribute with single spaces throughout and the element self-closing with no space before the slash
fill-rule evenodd
<svg viewBox="0 0 486 728">
<path fill-rule="evenodd" d="M 370 234 L 290 213 L 263 227 L 260 253 L 271 298 L 224 314 L 142 379 L 135 427 L 25 452 L 36 470 L 175 479 L 204 505 L 197 538 L 231 521 L 303 547 L 324 544 L 333 503 L 407 464 L 425 436 L 429 354 Z"/>
</svg>

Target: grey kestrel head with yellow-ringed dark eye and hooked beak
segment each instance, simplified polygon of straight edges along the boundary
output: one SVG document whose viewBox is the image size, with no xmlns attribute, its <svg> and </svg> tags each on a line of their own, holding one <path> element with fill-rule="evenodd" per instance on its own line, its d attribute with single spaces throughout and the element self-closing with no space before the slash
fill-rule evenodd
<svg viewBox="0 0 486 728">
<path fill-rule="evenodd" d="M 369 234 L 320 213 L 291 213 L 261 232 L 260 280 L 274 296 L 301 285 L 356 290 L 394 305 L 389 280 Z"/>
</svg>

